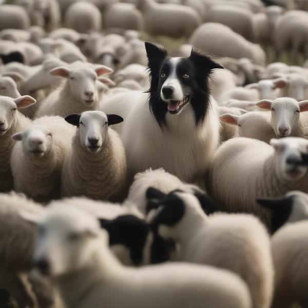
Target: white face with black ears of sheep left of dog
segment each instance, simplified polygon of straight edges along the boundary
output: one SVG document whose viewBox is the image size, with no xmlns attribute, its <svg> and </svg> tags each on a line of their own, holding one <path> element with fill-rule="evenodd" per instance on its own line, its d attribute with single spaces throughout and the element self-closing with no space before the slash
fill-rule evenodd
<svg viewBox="0 0 308 308">
<path fill-rule="evenodd" d="M 82 114 L 68 115 L 65 121 L 79 126 L 80 143 L 83 148 L 98 153 L 107 142 L 108 126 L 122 122 L 123 118 L 102 111 L 86 111 Z"/>
</svg>

